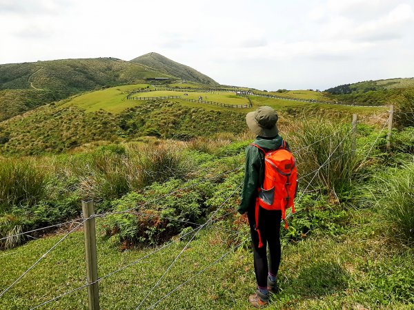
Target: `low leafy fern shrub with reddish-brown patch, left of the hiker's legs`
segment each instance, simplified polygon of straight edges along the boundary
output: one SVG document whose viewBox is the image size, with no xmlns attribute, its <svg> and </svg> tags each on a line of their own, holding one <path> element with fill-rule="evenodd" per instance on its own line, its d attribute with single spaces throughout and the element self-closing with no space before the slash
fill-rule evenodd
<svg viewBox="0 0 414 310">
<path fill-rule="evenodd" d="M 114 211 L 131 210 L 132 213 L 106 216 L 103 219 L 106 235 L 117 236 L 126 247 L 138 243 L 156 245 L 186 227 L 198 227 L 208 211 L 205 201 L 213 194 L 213 184 L 201 183 L 174 192 L 183 184 L 181 180 L 154 183 L 143 194 L 131 192 L 115 200 Z M 170 192 L 174 193 L 166 196 Z"/>
</svg>

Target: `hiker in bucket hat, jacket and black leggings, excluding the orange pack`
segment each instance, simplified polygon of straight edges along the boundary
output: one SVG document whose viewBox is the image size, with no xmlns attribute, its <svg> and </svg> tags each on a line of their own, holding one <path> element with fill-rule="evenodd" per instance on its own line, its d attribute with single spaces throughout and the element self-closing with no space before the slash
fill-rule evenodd
<svg viewBox="0 0 414 310">
<path fill-rule="evenodd" d="M 265 209 L 259 205 L 259 193 L 269 192 L 263 190 L 266 154 L 270 150 L 282 148 L 289 150 L 286 142 L 279 136 L 276 125 L 277 119 L 278 116 L 275 110 L 268 106 L 259 107 L 255 112 L 246 115 L 246 123 L 257 137 L 254 143 L 246 147 L 244 187 L 242 200 L 237 211 L 239 211 L 239 214 L 247 215 L 250 225 L 257 290 L 254 295 L 249 296 L 248 301 L 255 307 L 268 304 L 269 293 L 277 292 L 277 272 L 279 271 L 281 257 L 280 223 L 282 217 L 284 218 L 284 210 L 282 216 L 281 209 Z M 290 154 L 290 151 L 288 154 Z M 274 195 L 275 192 L 273 192 Z M 293 201 L 293 199 L 291 200 Z M 287 205 L 288 203 L 283 207 L 286 208 Z M 267 256 L 266 245 L 269 249 L 269 257 Z"/>
</svg>

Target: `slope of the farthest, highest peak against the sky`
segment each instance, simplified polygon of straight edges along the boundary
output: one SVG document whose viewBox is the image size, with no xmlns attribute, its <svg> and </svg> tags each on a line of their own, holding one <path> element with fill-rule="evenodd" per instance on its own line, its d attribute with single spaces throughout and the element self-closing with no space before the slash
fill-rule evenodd
<svg viewBox="0 0 414 310">
<path fill-rule="evenodd" d="M 201 72 L 198 72 L 197 70 L 188 67 L 188 65 L 182 65 L 181 63 L 172 61 L 171 59 L 168 59 L 167 57 L 157 54 L 155 52 L 139 56 L 135 59 L 132 59 L 131 62 L 140 63 L 141 65 L 146 65 L 155 70 L 159 70 L 166 74 L 177 76 L 181 79 L 185 79 L 195 83 L 218 85 L 216 81 L 206 76 L 205 74 L 202 74 Z"/>
</svg>

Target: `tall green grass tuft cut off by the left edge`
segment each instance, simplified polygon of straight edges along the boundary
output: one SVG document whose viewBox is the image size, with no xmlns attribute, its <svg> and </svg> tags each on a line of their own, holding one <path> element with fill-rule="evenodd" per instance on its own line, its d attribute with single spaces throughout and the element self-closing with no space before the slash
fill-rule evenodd
<svg viewBox="0 0 414 310">
<path fill-rule="evenodd" d="M 0 159 L 0 211 L 34 205 L 45 194 L 48 174 L 33 160 Z"/>
</svg>

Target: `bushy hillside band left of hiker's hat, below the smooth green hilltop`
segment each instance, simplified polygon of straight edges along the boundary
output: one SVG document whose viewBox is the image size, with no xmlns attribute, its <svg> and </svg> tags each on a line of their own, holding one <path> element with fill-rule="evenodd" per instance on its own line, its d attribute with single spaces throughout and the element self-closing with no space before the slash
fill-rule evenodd
<svg viewBox="0 0 414 310">
<path fill-rule="evenodd" d="M 115 99 L 121 98 L 117 96 L 119 91 L 112 92 Z M 97 110 L 100 101 L 97 105 L 80 107 L 63 103 L 39 107 L 3 121 L 0 123 L 0 152 L 9 155 L 60 153 L 92 141 L 137 136 L 187 139 L 245 130 L 244 112 L 205 110 L 170 101 L 119 100 L 121 108 L 116 104 L 106 106 L 117 114 Z"/>
</svg>

